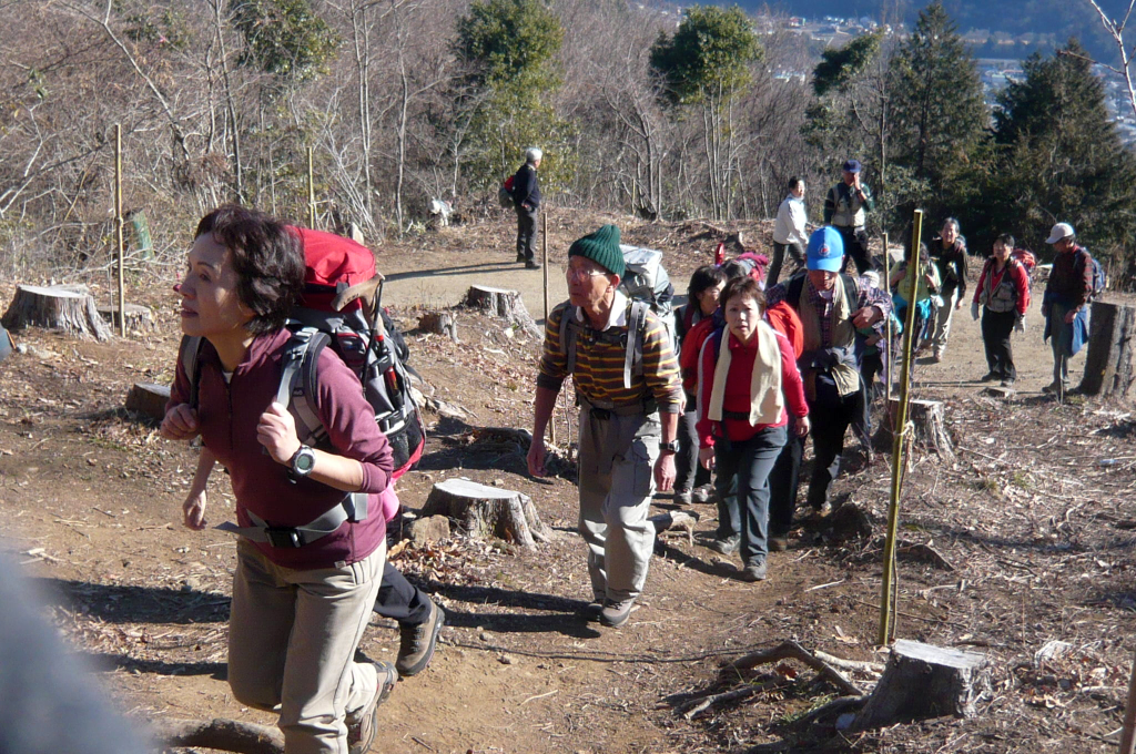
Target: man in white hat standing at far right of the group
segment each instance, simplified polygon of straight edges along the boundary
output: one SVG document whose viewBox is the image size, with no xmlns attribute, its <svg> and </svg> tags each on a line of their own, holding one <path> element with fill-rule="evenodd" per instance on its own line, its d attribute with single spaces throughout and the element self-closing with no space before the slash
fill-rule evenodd
<svg viewBox="0 0 1136 754">
<path fill-rule="evenodd" d="M 1045 336 L 1053 349 L 1053 382 L 1045 393 L 1064 395 L 1069 388 L 1069 359 L 1072 358 L 1074 322 L 1093 293 L 1093 263 L 1088 251 L 1077 244 L 1077 233 L 1068 223 L 1058 223 L 1045 243 L 1056 257 L 1042 298 Z"/>
</svg>

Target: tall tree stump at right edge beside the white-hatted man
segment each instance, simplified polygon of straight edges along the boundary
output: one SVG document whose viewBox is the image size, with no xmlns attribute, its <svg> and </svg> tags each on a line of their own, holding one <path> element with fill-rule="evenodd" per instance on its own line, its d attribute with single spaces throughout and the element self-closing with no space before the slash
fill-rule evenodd
<svg viewBox="0 0 1136 754">
<path fill-rule="evenodd" d="M 1136 308 L 1094 301 L 1089 316 L 1088 354 L 1080 391 L 1085 395 L 1128 397 L 1136 382 L 1133 338 L 1136 337 Z"/>
</svg>

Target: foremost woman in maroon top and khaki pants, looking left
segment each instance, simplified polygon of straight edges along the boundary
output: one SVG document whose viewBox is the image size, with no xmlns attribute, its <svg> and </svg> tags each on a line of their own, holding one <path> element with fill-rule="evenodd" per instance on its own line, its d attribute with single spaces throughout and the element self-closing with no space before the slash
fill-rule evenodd
<svg viewBox="0 0 1136 754">
<path fill-rule="evenodd" d="M 229 472 L 240 528 L 228 528 L 241 535 L 233 696 L 278 705 L 289 754 L 358 754 L 398 680 L 390 663 L 354 660 L 383 573 L 378 495 L 393 461 L 358 378 L 331 349 L 319 355 L 316 401 L 326 445 L 302 445 L 276 401 L 284 324 L 303 279 L 300 237 L 283 223 L 235 204 L 201 219 L 177 290 L 182 332 L 203 340 L 195 379 L 178 362 L 161 434 L 200 434 L 206 444 L 186 499 L 190 528 L 204 527 L 214 459 Z M 373 514 L 360 512 L 362 497 Z"/>
</svg>

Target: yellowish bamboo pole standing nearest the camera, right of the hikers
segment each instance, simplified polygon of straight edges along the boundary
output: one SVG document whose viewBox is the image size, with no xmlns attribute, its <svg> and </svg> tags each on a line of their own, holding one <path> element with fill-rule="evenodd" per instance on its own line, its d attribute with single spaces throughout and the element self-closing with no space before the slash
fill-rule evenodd
<svg viewBox="0 0 1136 754">
<path fill-rule="evenodd" d="M 887 538 L 884 542 L 884 584 L 879 605 L 879 636 L 878 644 L 889 644 L 895 634 L 895 626 L 892 619 L 893 612 L 893 589 L 892 583 L 895 580 L 895 538 L 900 523 L 900 492 L 903 486 L 903 444 L 908 435 L 908 407 L 911 400 L 911 349 L 913 333 L 916 328 L 916 292 L 919 290 L 919 277 L 922 270 L 919 269 L 919 242 L 922 236 L 922 210 L 917 209 L 911 224 L 911 260 L 908 262 L 908 271 L 911 278 L 911 290 L 904 291 L 902 280 L 900 282 L 900 294 L 908 300 L 908 311 L 903 325 L 903 366 L 900 371 L 900 405 L 895 412 L 895 425 L 892 428 L 892 494 L 887 506 Z M 891 408 L 891 407 L 888 407 Z"/>
</svg>

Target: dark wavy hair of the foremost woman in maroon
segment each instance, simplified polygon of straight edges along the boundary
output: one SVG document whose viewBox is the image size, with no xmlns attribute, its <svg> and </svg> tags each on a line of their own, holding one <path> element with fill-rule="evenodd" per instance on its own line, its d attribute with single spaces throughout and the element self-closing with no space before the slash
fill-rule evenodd
<svg viewBox="0 0 1136 754">
<path fill-rule="evenodd" d="M 303 292 L 303 245 L 286 224 L 260 210 L 223 204 L 198 223 L 194 238 L 211 234 L 233 254 L 241 303 L 253 311 L 253 335 L 284 327 Z"/>
</svg>

